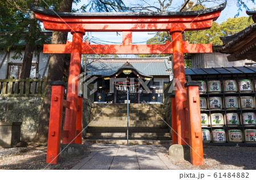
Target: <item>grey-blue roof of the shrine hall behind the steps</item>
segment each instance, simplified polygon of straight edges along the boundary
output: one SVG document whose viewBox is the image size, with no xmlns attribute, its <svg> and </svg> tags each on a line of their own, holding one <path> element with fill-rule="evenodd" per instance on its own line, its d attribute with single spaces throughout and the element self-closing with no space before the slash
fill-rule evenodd
<svg viewBox="0 0 256 180">
<path fill-rule="evenodd" d="M 90 62 L 91 61 L 91 62 Z M 171 74 L 171 61 L 164 58 L 102 58 L 89 59 L 87 73 L 90 75 L 106 76 L 116 72 L 129 62 L 138 72 L 148 76 L 169 76 Z"/>
</svg>

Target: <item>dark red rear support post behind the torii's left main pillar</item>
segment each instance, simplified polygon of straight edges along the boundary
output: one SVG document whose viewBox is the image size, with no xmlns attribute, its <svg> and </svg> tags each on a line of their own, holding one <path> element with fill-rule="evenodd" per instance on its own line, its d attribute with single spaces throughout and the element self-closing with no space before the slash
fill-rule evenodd
<svg viewBox="0 0 256 180">
<path fill-rule="evenodd" d="M 78 109 L 77 109 L 77 115 L 76 115 L 76 144 L 82 144 L 82 97 L 79 97 L 78 100 Z"/>
</svg>

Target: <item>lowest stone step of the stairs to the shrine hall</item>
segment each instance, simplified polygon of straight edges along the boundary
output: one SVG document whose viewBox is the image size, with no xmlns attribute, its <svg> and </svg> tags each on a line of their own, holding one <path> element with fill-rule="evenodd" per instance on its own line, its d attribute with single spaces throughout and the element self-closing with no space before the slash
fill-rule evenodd
<svg viewBox="0 0 256 180">
<path fill-rule="evenodd" d="M 85 139 L 84 141 L 101 144 L 127 144 L 127 140 L 120 139 Z M 171 140 L 129 140 L 129 144 L 171 144 Z"/>
</svg>

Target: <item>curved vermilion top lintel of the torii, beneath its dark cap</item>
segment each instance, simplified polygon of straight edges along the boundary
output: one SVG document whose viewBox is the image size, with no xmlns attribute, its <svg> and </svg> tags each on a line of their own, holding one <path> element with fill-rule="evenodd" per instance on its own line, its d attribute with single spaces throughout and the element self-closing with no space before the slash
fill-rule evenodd
<svg viewBox="0 0 256 180">
<path fill-rule="evenodd" d="M 184 31 L 208 29 L 213 20 L 220 16 L 221 11 L 192 16 L 52 16 L 35 12 L 36 18 L 43 22 L 49 31 L 70 32 L 75 28 L 96 31 L 169 31 L 181 27 Z"/>
</svg>

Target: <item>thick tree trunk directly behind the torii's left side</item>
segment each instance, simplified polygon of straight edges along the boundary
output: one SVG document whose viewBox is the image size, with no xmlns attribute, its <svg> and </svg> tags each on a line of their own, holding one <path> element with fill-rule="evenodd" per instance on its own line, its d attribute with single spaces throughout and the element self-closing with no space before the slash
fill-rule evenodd
<svg viewBox="0 0 256 180">
<path fill-rule="evenodd" d="M 63 0 L 57 11 L 71 12 L 73 0 Z M 67 32 L 53 32 L 51 44 L 66 44 Z M 51 108 L 51 91 L 52 87 L 49 82 L 62 80 L 64 69 L 65 54 L 50 54 L 49 68 L 46 79 L 46 87 L 44 88 L 44 98 L 39 114 L 38 130 L 36 132 L 34 142 L 45 143 L 48 139 L 49 129 L 49 113 Z"/>
</svg>

